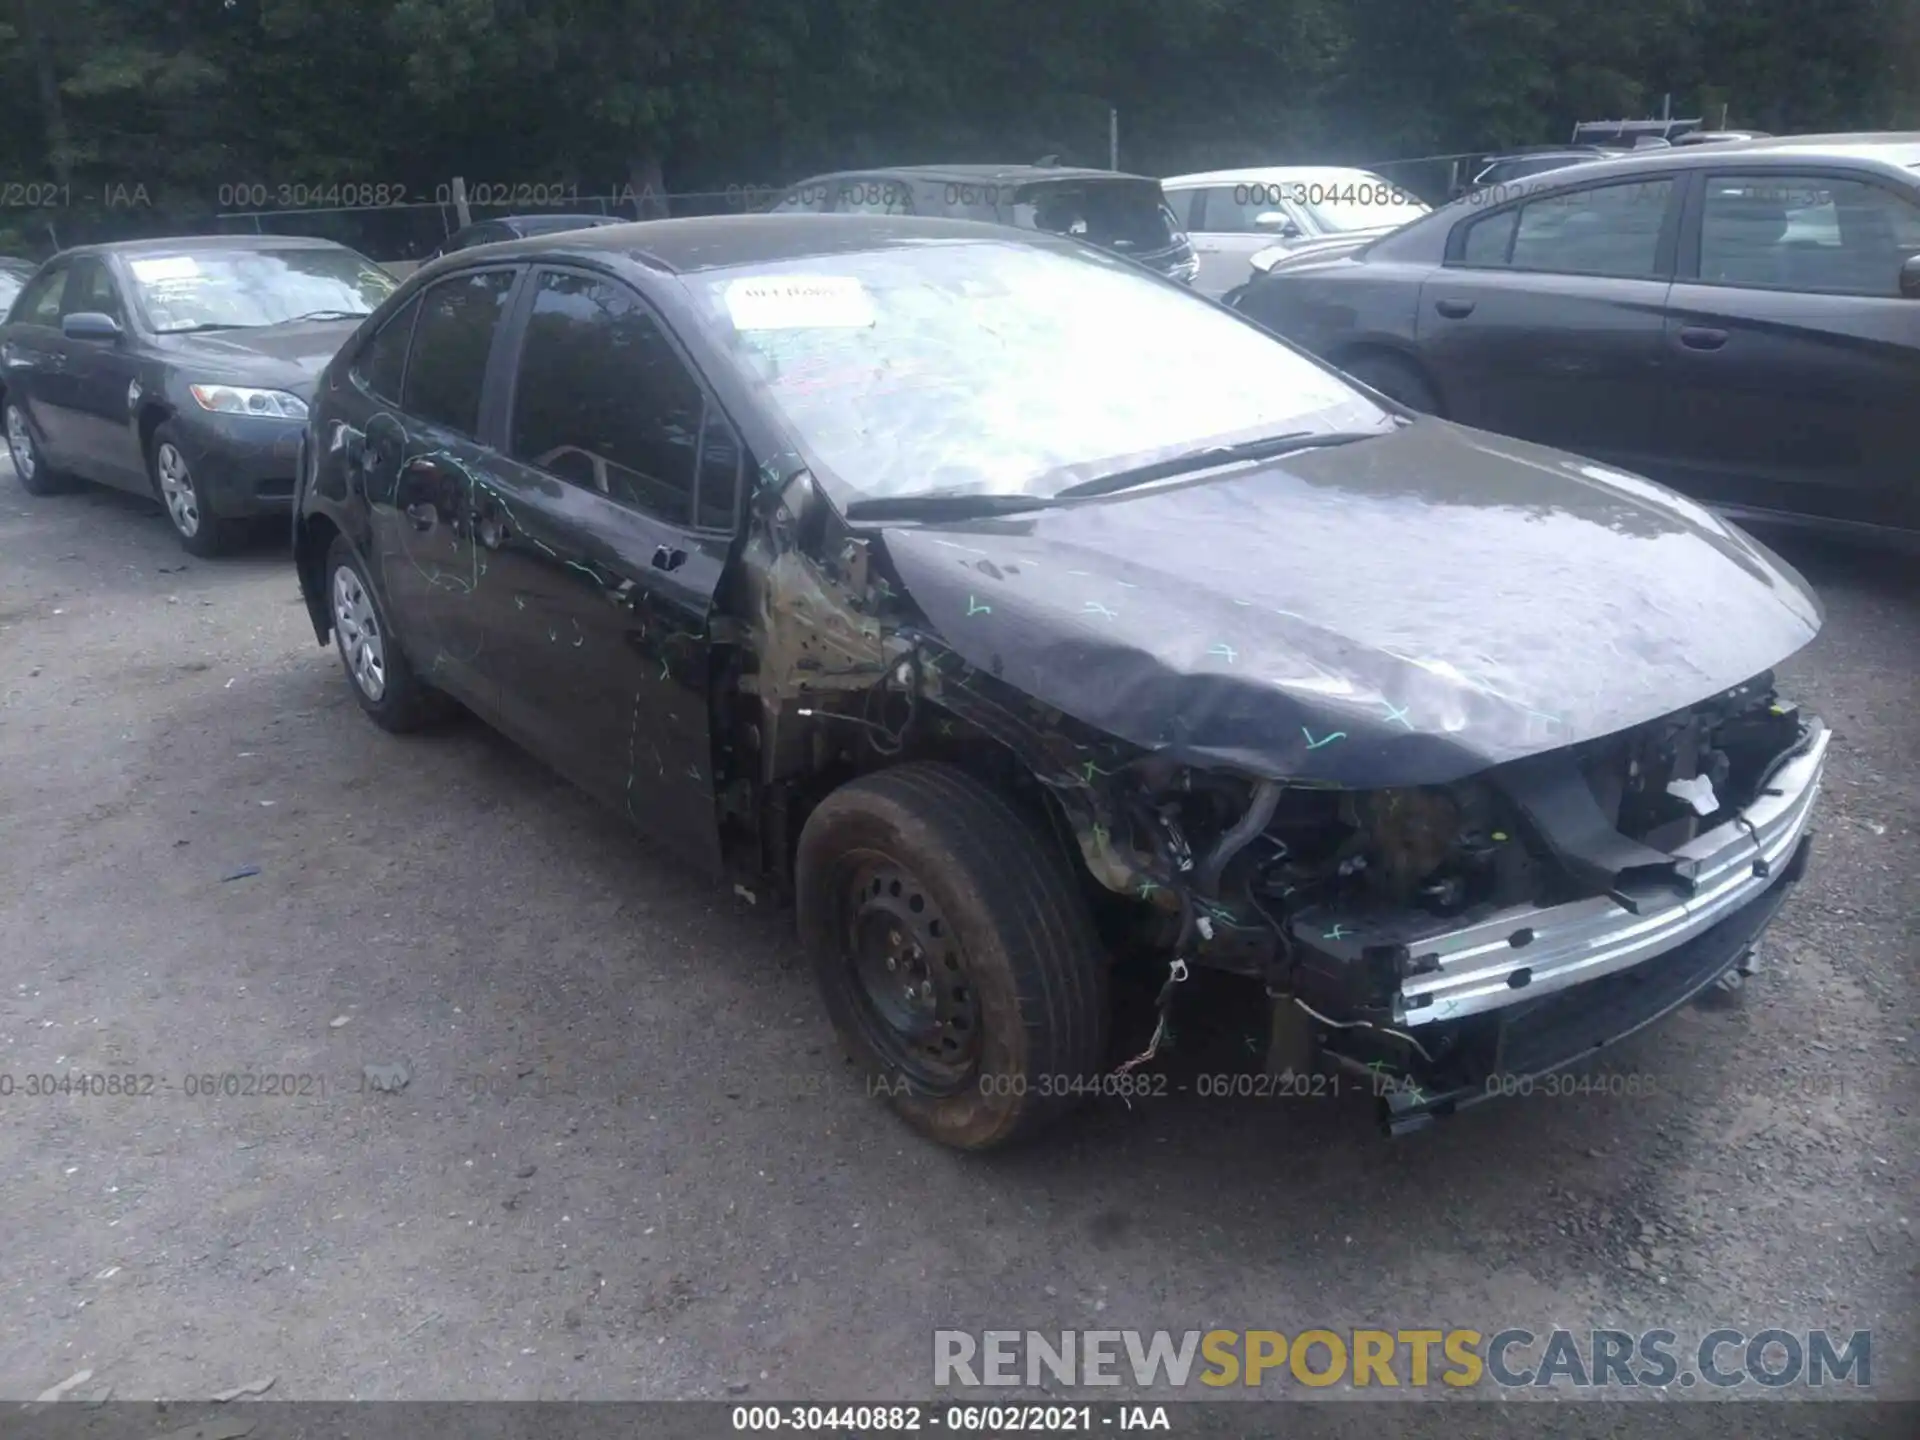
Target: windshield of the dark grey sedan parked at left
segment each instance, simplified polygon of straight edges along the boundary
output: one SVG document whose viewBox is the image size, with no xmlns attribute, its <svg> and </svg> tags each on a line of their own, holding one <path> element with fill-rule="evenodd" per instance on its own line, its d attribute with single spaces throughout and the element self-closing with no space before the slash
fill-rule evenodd
<svg viewBox="0 0 1920 1440">
<path fill-rule="evenodd" d="M 127 269 L 161 334 L 259 328 L 303 315 L 371 315 L 394 276 L 346 248 L 190 250 L 129 255 Z"/>
</svg>

